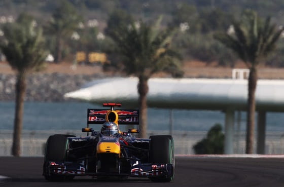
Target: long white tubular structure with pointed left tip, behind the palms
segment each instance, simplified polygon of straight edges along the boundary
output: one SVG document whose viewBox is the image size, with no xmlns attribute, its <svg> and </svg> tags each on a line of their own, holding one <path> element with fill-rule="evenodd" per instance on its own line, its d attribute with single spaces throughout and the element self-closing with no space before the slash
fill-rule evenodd
<svg viewBox="0 0 284 187">
<path fill-rule="evenodd" d="M 136 106 L 137 78 L 109 78 L 88 83 L 84 88 L 65 94 L 101 104 L 117 102 Z M 149 80 L 148 104 L 151 107 L 185 109 L 246 108 L 247 80 L 163 79 Z M 256 92 L 258 110 L 284 111 L 284 81 L 259 80 Z"/>
</svg>

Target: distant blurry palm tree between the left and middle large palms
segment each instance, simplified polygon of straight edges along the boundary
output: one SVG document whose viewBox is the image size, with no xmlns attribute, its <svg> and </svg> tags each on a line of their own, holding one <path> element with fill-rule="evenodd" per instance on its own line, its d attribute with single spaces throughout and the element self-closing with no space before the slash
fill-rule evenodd
<svg viewBox="0 0 284 187">
<path fill-rule="evenodd" d="M 70 39 L 73 32 L 79 28 L 81 20 L 75 7 L 66 0 L 62 0 L 60 6 L 55 9 L 46 28 L 48 34 L 55 35 L 55 62 L 62 60 L 64 41 Z"/>
</svg>

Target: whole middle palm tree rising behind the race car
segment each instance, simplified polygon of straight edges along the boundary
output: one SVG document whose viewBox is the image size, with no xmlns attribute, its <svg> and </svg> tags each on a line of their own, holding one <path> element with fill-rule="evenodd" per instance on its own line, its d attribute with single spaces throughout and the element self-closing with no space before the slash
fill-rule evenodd
<svg viewBox="0 0 284 187">
<path fill-rule="evenodd" d="M 131 22 L 119 29 L 109 30 L 108 34 L 117 45 L 122 56 L 123 71 L 138 77 L 137 90 L 140 108 L 141 137 L 147 136 L 147 93 L 148 80 L 159 71 L 182 76 L 180 56 L 170 49 L 173 29 L 159 30 L 161 19 L 154 26 L 144 22 Z"/>
</svg>

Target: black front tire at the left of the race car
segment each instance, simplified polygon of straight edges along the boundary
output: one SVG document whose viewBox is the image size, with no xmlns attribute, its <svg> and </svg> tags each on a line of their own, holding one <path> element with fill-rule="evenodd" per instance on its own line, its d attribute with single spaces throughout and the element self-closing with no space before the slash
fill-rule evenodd
<svg viewBox="0 0 284 187">
<path fill-rule="evenodd" d="M 50 174 L 48 171 L 48 162 L 64 162 L 67 154 L 68 137 L 75 137 L 74 135 L 55 134 L 49 136 L 46 142 L 45 162 L 44 162 L 44 177 L 49 181 L 70 180 L 74 176 L 57 176 Z"/>
</svg>

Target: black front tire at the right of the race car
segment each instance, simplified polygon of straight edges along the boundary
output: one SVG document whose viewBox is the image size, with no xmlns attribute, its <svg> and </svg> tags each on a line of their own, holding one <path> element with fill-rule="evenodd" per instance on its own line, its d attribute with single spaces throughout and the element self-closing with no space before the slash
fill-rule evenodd
<svg viewBox="0 0 284 187">
<path fill-rule="evenodd" d="M 170 135 L 150 136 L 150 163 L 171 164 L 169 176 L 151 177 L 154 182 L 170 182 L 174 177 L 174 143 Z"/>
</svg>

